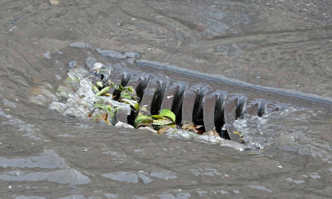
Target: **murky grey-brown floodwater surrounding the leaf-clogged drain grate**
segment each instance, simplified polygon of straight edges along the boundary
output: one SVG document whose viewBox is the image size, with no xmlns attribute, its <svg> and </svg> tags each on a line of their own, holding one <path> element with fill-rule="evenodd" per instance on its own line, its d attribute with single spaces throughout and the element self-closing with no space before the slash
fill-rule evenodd
<svg viewBox="0 0 332 199">
<path fill-rule="evenodd" d="M 2 0 L 0 197 L 331 198 L 331 7 L 296 0 Z M 89 45 L 70 47 L 74 42 Z M 137 63 L 170 63 L 231 82 L 102 57 L 96 48 L 137 51 Z M 200 86 L 208 89 L 207 119 L 215 92 L 228 93 L 231 124 L 236 96 L 246 95 L 253 147 L 240 151 L 49 110 L 68 62 L 85 66 L 89 56 L 117 64 L 115 80 L 132 71 L 132 85 L 151 74 L 146 104 L 159 78 L 171 80 L 166 96 L 187 83 L 184 119 Z M 302 97 L 229 84 L 238 80 Z M 269 101 L 264 122 L 255 117 L 259 99 Z"/>
</svg>

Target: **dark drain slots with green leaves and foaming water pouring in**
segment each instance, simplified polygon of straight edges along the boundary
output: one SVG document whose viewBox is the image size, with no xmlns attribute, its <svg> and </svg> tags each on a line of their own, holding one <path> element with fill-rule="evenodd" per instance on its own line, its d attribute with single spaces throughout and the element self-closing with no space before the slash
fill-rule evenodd
<svg viewBox="0 0 332 199">
<path fill-rule="evenodd" d="M 145 77 L 139 78 L 136 88 L 133 89 L 132 87 L 127 86 L 133 76 L 133 72 L 124 72 L 120 79 L 120 82 L 116 85 L 111 81 L 111 76 L 113 75 L 115 70 L 114 65 L 104 65 L 100 62 L 97 62 L 97 60 L 94 58 L 88 58 L 86 60 L 86 64 L 89 66 L 90 69 L 89 72 L 86 73 L 87 79 L 84 79 L 84 76 L 75 76 L 71 73 L 68 73 L 68 75 L 71 75 L 71 79 L 78 78 L 81 82 L 80 89 L 75 93 L 79 96 L 73 93 L 69 93 L 67 104 L 61 102 L 52 102 L 50 105 L 50 109 L 58 109 L 57 111 L 59 113 L 63 113 L 65 115 L 88 115 L 88 117 L 91 117 L 91 119 L 95 121 L 103 121 L 107 124 L 112 125 L 119 123 L 119 125 L 122 124 L 122 126 L 124 126 L 124 123 L 121 122 L 129 124 L 129 126 L 137 126 L 137 124 L 135 124 L 135 120 L 138 118 L 139 115 L 142 114 L 151 115 L 152 118 L 159 118 L 159 120 L 160 118 L 162 118 L 161 116 L 158 116 L 158 114 L 160 114 L 161 107 L 165 99 L 165 93 L 167 92 L 167 88 L 169 86 L 168 78 L 157 80 L 157 86 L 154 89 L 154 94 L 152 100 L 150 101 L 150 109 L 147 110 L 144 106 L 142 106 L 141 103 L 145 96 L 145 90 L 150 83 L 151 75 L 146 75 Z M 75 71 L 77 70 L 78 66 L 74 64 L 74 66 L 72 66 L 71 68 L 71 70 Z M 87 97 L 91 96 L 91 94 L 88 94 L 90 93 L 90 91 L 87 91 L 89 90 L 89 84 L 91 84 L 93 90 L 95 90 L 96 97 L 86 100 Z M 185 100 L 186 91 L 188 89 L 188 84 L 178 83 L 175 86 L 176 89 L 174 91 L 174 96 L 170 96 L 173 97 L 170 110 L 174 113 L 174 127 L 177 127 L 178 129 L 182 128 L 183 130 L 189 131 L 195 130 L 197 134 L 214 135 L 226 140 L 245 142 L 244 138 L 246 138 L 246 136 L 248 135 L 248 127 L 246 122 L 246 96 L 238 96 L 235 106 L 234 119 L 238 121 L 237 123 L 239 123 L 239 129 L 241 130 L 241 132 L 239 132 L 238 128 L 234 128 L 233 126 L 226 123 L 226 92 L 217 92 L 216 95 L 214 95 L 215 103 L 213 111 L 213 121 L 208 121 L 208 119 L 204 118 L 206 103 L 205 100 L 208 89 L 204 86 L 200 86 L 196 90 L 195 99 L 193 101 L 192 121 L 190 121 L 192 123 L 190 124 L 190 122 L 188 123 L 188 121 L 183 121 L 183 103 Z M 84 91 L 87 92 L 87 94 L 85 94 Z M 127 91 L 130 92 L 126 93 Z M 77 100 L 79 104 L 75 104 L 75 100 Z M 92 103 L 94 103 L 93 110 L 90 114 L 88 114 L 89 111 L 91 111 Z M 135 103 L 137 103 L 136 108 Z M 266 113 L 267 105 L 268 102 L 266 100 L 261 100 L 258 102 L 258 117 L 262 117 Z M 152 119 L 149 119 L 149 121 L 145 122 L 151 121 Z M 158 122 L 161 122 L 161 120 Z M 157 122 L 154 121 L 153 124 L 155 123 Z M 215 128 L 212 131 L 207 132 L 207 123 L 213 123 Z M 149 123 L 147 123 L 146 125 L 148 124 Z M 157 123 L 156 125 L 158 126 L 160 124 Z M 158 128 L 159 127 L 160 126 L 158 126 Z M 153 129 L 150 128 L 149 130 Z M 181 133 L 183 134 L 184 132 Z"/>
</svg>

